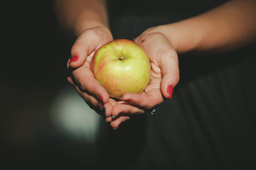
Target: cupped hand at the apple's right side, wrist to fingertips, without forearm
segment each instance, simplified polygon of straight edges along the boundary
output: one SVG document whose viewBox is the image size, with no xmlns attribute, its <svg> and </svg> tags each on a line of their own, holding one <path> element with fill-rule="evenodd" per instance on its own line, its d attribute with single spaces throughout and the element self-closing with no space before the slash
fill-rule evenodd
<svg viewBox="0 0 256 170">
<path fill-rule="evenodd" d="M 131 116 L 149 111 L 163 102 L 164 98 L 171 98 L 179 80 L 178 55 L 159 28 L 146 30 L 135 42 L 149 55 L 151 80 L 144 93 L 124 94 L 122 101 L 113 106 L 111 114 L 114 120 L 110 125 L 114 129 Z"/>
</svg>

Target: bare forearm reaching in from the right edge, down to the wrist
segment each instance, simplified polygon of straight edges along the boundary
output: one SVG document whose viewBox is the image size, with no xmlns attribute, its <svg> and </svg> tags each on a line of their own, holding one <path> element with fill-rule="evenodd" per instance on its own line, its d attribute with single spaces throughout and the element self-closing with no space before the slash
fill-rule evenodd
<svg viewBox="0 0 256 170">
<path fill-rule="evenodd" d="M 256 39 L 256 1 L 229 1 L 200 16 L 161 27 L 177 52 L 230 50 Z"/>
</svg>

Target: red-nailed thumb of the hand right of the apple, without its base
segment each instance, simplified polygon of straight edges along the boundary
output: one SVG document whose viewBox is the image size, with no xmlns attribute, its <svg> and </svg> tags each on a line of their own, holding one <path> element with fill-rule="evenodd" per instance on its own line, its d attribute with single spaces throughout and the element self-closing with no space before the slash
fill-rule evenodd
<svg viewBox="0 0 256 170">
<path fill-rule="evenodd" d="M 160 64 L 162 74 L 161 93 L 165 98 L 171 98 L 174 87 L 179 81 L 178 55 L 174 50 L 170 51 L 169 55 L 161 57 Z"/>
</svg>

